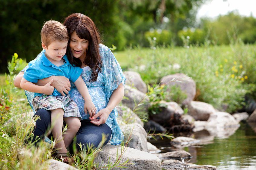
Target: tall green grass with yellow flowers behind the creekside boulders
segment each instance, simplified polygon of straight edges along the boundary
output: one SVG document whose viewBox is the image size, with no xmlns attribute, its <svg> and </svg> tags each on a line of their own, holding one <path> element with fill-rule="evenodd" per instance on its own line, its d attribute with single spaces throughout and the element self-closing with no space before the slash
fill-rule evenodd
<svg viewBox="0 0 256 170">
<path fill-rule="evenodd" d="M 129 49 L 128 67 L 150 85 L 159 83 L 163 76 L 184 73 L 196 82 L 194 100 L 210 103 L 216 109 L 227 104 L 227 111 L 233 112 L 243 106 L 245 94 L 255 90 L 255 49 L 255 45 L 241 41 L 220 47 Z"/>
</svg>

